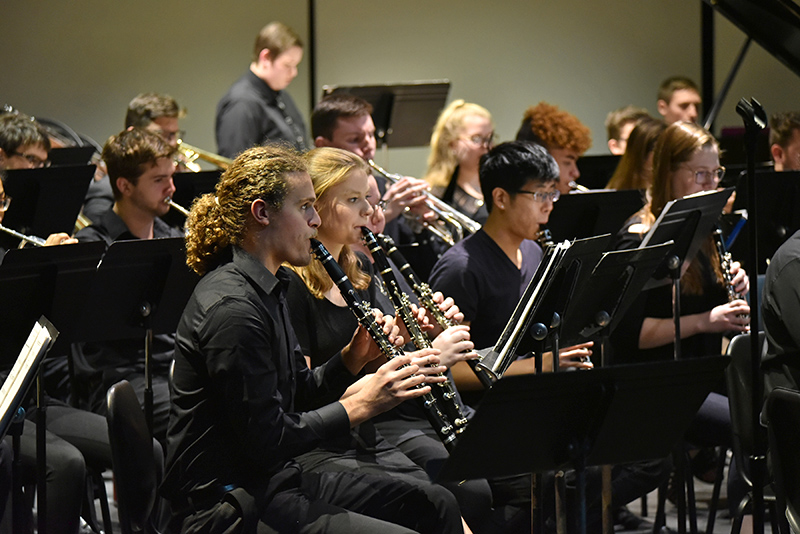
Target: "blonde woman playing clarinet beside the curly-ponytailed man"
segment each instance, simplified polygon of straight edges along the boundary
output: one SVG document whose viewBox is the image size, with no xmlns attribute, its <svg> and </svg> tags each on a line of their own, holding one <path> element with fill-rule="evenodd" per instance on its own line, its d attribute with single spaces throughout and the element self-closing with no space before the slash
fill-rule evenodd
<svg viewBox="0 0 800 534">
<path fill-rule="evenodd" d="M 373 206 L 380 199 L 370 194 L 368 168 L 357 156 L 333 148 L 312 150 L 307 155 L 307 163 L 317 194 L 316 208 L 322 219 L 318 239 L 348 274 L 362 300 L 373 308 L 394 314 L 388 297 L 374 276 L 371 261 L 364 254 L 353 251 L 361 242 L 361 227 L 376 219 Z M 307 268 L 295 269 L 295 272 L 297 276 L 290 282 L 287 300 L 300 345 L 305 354 L 312 355 L 310 365 L 314 367 L 341 350 L 358 323 L 318 260 L 312 260 Z M 455 319 L 461 318 L 457 308 L 447 313 Z M 444 365 L 474 356 L 470 352 L 472 343 L 465 327 L 452 327 L 446 332 L 433 341 L 433 346 L 441 350 L 439 358 Z M 408 340 L 407 332 L 402 333 Z M 445 446 L 418 405 L 404 403 L 385 415 L 376 419 L 375 426 L 386 429 L 386 436 L 383 431 L 367 425 L 358 429 L 358 439 L 379 459 L 378 463 L 385 460 L 396 468 L 407 462 L 418 469 L 417 466 L 425 468 L 432 460 L 447 458 Z M 314 465 L 313 454 L 306 455 L 303 461 Z M 315 467 L 336 469 L 348 466 L 340 462 L 337 466 Z M 506 525 L 491 527 L 492 495 L 485 480 L 446 487 L 456 496 L 462 516 L 473 532 L 500 532 L 506 528 Z M 522 523 L 524 526 L 525 521 Z M 513 532 L 513 529 L 505 531 Z"/>
</svg>

